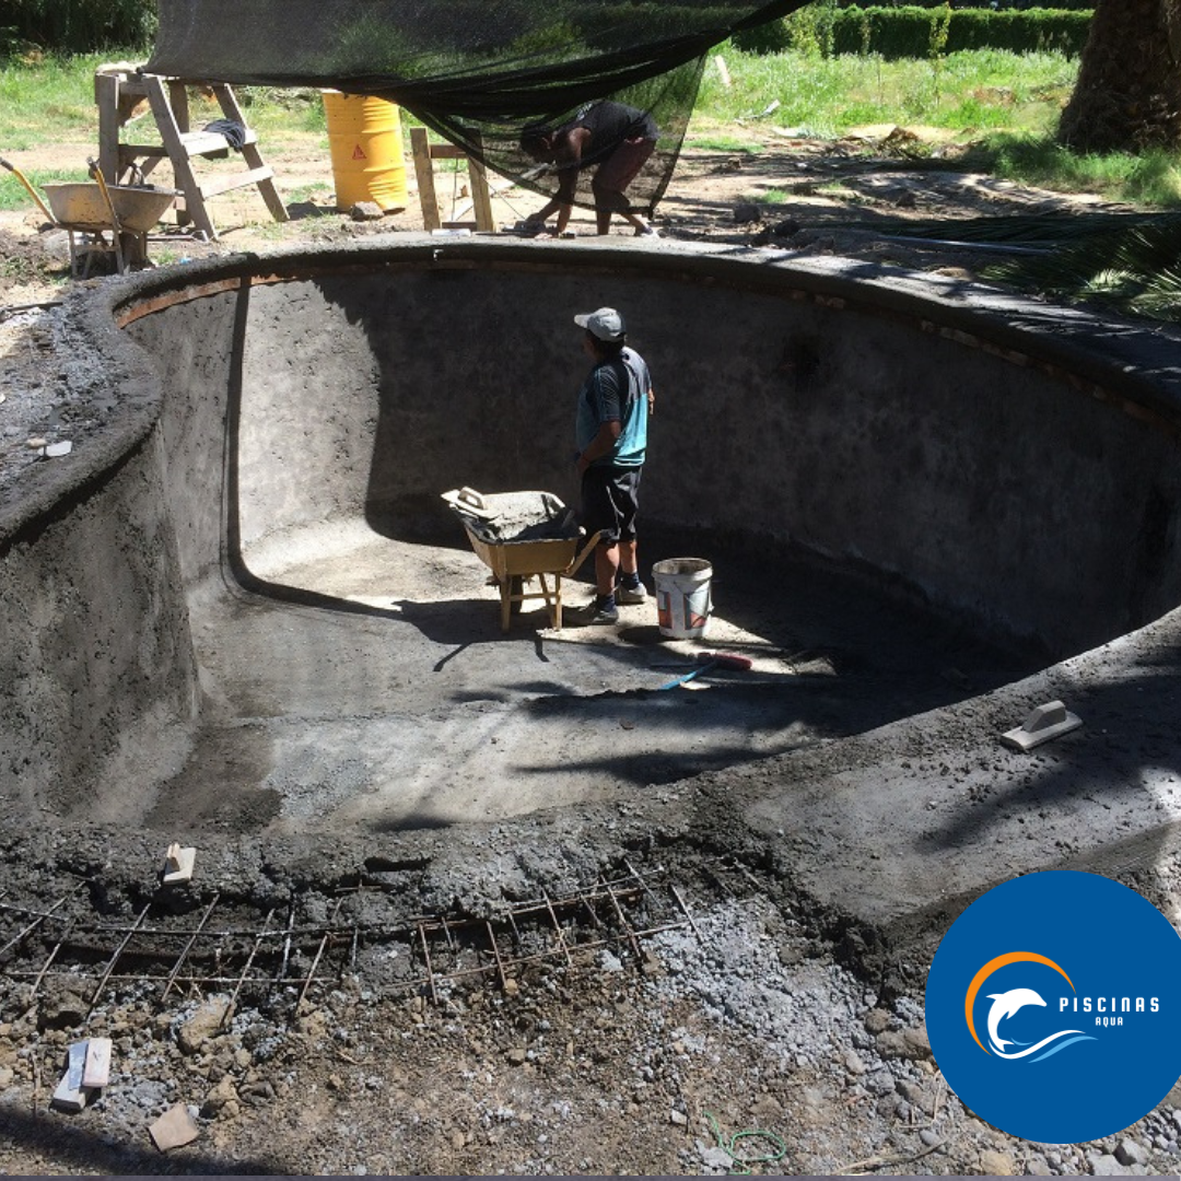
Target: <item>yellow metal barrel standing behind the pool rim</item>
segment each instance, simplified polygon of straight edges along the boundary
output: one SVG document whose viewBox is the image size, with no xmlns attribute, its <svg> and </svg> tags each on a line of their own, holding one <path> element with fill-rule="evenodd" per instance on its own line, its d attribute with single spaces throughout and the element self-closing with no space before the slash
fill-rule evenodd
<svg viewBox="0 0 1181 1181">
<path fill-rule="evenodd" d="M 383 210 L 406 208 L 406 165 L 397 104 L 366 94 L 324 93 L 337 209 L 372 201 Z"/>
</svg>

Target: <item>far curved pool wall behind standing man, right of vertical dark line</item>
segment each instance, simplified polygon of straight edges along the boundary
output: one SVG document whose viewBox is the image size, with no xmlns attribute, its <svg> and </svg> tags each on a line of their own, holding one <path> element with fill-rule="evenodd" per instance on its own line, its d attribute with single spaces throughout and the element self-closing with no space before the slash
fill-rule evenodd
<svg viewBox="0 0 1181 1181">
<path fill-rule="evenodd" d="M 576 502 L 572 317 L 600 304 L 654 374 L 650 518 L 852 560 L 1057 655 L 1177 601 L 1167 433 L 918 319 L 626 265 L 416 265 L 256 295 L 243 541 L 363 503 L 413 533 L 462 484 Z"/>
</svg>

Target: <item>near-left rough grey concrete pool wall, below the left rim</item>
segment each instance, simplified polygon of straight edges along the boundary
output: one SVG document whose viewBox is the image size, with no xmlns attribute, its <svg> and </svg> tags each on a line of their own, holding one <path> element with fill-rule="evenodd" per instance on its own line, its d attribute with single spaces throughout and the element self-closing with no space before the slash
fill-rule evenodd
<svg viewBox="0 0 1181 1181">
<path fill-rule="evenodd" d="M 115 816 L 124 788 L 142 805 L 144 763 L 183 750 L 195 668 L 162 461 L 152 433 L 0 539 L 0 798 Z"/>
</svg>

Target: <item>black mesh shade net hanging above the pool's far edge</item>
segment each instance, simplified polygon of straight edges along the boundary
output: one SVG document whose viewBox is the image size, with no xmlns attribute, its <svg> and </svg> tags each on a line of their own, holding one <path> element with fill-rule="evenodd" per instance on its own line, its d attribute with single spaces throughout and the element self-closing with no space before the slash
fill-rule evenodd
<svg viewBox="0 0 1181 1181">
<path fill-rule="evenodd" d="M 672 176 L 710 48 L 807 0 L 159 0 L 151 73 L 231 85 L 314 86 L 405 107 L 485 167 L 552 196 L 521 146 L 599 102 L 651 115 L 655 150 L 627 185 L 655 205 Z M 600 156 L 602 152 L 600 152 Z M 601 161 L 574 201 L 592 205 Z"/>
</svg>

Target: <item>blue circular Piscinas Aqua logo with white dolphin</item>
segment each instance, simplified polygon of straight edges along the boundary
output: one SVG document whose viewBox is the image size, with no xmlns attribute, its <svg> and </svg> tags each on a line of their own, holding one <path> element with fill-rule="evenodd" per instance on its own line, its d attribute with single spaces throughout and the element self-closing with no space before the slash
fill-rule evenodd
<svg viewBox="0 0 1181 1181">
<path fill-rule="evenodd" d="M 1181 1075 L 1181 938 L 1109 877 L 1017 877 L 944 937 L 927 1035 L 947 1085 L 1003 1131 L 1056 1144 L 1110 1136 Z"/>
</svg>

